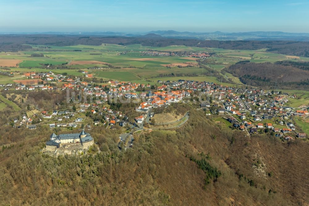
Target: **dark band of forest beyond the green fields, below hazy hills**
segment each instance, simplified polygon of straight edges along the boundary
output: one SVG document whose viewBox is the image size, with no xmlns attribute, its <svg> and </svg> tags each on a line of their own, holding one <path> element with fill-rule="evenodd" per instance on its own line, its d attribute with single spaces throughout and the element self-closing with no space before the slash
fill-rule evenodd
<svg viewBox="0 0 309 206">
<path fill-rule="evenodd" d="M 80 36 L 80 35 L 0 35 L 0 51 L 18 51 L 31 48 L 29 45 L 101 45 L 102 43 L 145 46 L 186 45 L 222 49 L 265 49 L 272 53 L 309 57 L 309 42 L 300 41 L 203 41 L 200 39 L 165 38 L 159 35 L 128 36 Z"/>
</svg>

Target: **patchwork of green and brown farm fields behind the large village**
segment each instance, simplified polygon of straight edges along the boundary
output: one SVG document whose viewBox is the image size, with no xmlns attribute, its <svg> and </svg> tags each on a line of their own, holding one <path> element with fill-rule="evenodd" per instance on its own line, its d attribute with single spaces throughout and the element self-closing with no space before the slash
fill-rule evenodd
<svg viewBox="0 0 309 206">
<path fill-rule="evenodd" d="M 279 60 L 293 59 L 295 61 L 309 60 L 309 58 L 299 58 L 283 54 L 266 53 L 265 49 L 259 50 L 230 50 L 218 48 L 200 48 L 187 46 L 167 46 L 151 47 L 136 45 L 113 45 L 102 44 L 95 45 L 74 45 L 74 46 L 44 46 L 31 45 L 33 49 L 24 52 L 0 52 L 1 62 L 11 66 L 11 71 L 30 72 L 36 71 L 45 73 L 53 71 L 54 74 L 67 73 L 72 76 L 83 76 L 78 70 L 99 68 L 88 70 L 95 77 L 102 79 L 113 79 L 120 81 L 135 81 L 155 84 L 153 78 L 160 74 L 183 74 L 193 75 L 191 77 L 176 77 L 175 79 L 194 79 L 199 81 L 209 81 L 220 83 L 221 79 L 215 77 L 200 76 L 203 69 L 199 68 L 196 62 L 197 58 L 178 57 L 178 56 L 142 56 L 141 51 L 192 51 L 192 52 L 215 52 L 217 55 L 207 59 L 205 63 L 208 67 L 221 72 L 223 68 L 235 64 L 241 60 L 250 60 L 252 62 L 275 62 Z M 43 54 L 43 57 L 33 57 L 32 54 Z M 10 63 L 11 65 L 8 65 Z M 14 63 L 14 65 L 13 65 Z M 52 64 L 57 69 L 44 69 L 42 64 Z M 17 65 L 17 66 L 16 66 Z M 58 67 L 59 65 L 59 67 Z M 109 65 L 109 66 L 108 66 Z M 114 68 L 110 68 L 110 65 Z M 186 66 L 193 67 L 186 67 Z M 169 68 L 167 68 L 169 67 Z M 61 68 L 61 69 L 59 69 Z M 222 74 L 222 78 L 230 78 L 237 85 L 243 85 L 237 77 L 228 73 Z M 16 78 L 16 79 L 13 79 Z M 169 80 L 173 79 L 169 78 Z M 17 76 L 0 76 L 0 83 L 13 83 L 17 80 L 27 79 Z M 159 78 L 162 79 L 162 78 Z M 147 83 L 148 84 L 148 83 Z M 233 84 L 222 83 L 222 85 L 232 86 Z M 296 103 L 295 103 L 296 104 Z"/>
</svg>

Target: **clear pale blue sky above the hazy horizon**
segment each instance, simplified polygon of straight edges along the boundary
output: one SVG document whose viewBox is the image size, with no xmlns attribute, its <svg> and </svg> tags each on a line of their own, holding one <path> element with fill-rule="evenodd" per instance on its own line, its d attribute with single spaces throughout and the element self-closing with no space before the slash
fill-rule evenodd
<svg viewBox="0 0 309 206">
<path fill-rule="evenodd" d="M 309 0 L 0 0 L 0 32 L 309 32 Z"/>
</svg>

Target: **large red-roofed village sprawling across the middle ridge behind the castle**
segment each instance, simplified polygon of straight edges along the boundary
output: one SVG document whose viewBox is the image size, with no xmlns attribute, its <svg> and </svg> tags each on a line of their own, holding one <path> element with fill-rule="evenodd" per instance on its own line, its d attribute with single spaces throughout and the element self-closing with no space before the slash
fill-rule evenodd
<svg viewBox="0 0 309 206">
<path fill-rule="evenodd" d="M 127 128 L 127 133 L 133 128 L 143 129 L 144 122 L 151 122 L 151 118 L 155 115 L 153 111 L 157 108 L 168 107 L 174 103 L 188 103 L 207 115 L 213 115 L 218 124 L 243 130 L 244 135 L 251 136 L 266 132 L 287 141 L 306 138 L 306 134 L 299 127 L 295 127 L 293 119 L 308 117 L 308 108 L 287 106 L 288 97 L 297 98 L 293 94 L 256 88 L 227 87 L 211 82 L 182 79 L 158 80 L 159 86 L 121 81 L 108 81 L 105 85 L 99 85 L 91 81 L 93 75 L 88 74 L 88 71 L 83 70 L 81 73 L 85 77 L 83 80 L 68 75 L 55 75 L 51 71 L 44 74 L 31 72 L 25 75 L 29 79 L 39 77 L 42 81 L 28 85 L 0 85 L 4 90 L 15 89 L 27 92 L 75 91 L 86 100 L 76 103 L 76 99 L 72 98 L 70 108 L 66 110 L 58 111 L 51 108 L 49 111 L 41 110 L 31 116 L 24 114 L 20 119 L 12 119 L 8 124 L 18 129 L 25 126 L 29 130 L 37 129 L 39 125 L 50 129 L 87 130 L 98 125 L 105 128 L 119 125 Z M 124 102 L 124 104 L 128 101 L 135 102 L 138 106 L 134 110 L 139 115 L 130 117 L 121 109 L 111 109 L 112 101 Z M 91 118 L 92 114 L 96 116 Z M 101 118 L 98 118 L 98 115 Z"/>
</svg>

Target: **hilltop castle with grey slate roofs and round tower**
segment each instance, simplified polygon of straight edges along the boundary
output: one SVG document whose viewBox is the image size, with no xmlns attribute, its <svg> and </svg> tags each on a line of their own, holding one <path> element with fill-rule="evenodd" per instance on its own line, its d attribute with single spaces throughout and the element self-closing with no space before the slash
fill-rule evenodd
<svg viewBox="0 0 309 206">
<path fill-rule="evenodd" d="M 50 140 L 46 142 L 45 148 L 51 152 L 57 149 L 88 149 L 93 143 L 91 135 L 84 130 L 75 134 L 56 135 L 53 133 L 50 135 Z"/>
</svg>

